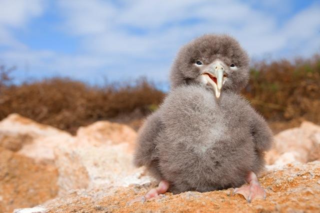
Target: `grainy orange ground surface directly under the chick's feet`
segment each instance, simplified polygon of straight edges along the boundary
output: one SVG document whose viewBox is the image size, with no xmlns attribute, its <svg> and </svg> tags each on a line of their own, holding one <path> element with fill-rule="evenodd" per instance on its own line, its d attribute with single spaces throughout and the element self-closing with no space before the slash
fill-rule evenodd
<svg viewBox="0 0 320 213">
<path fill-rule="evenodd" d="M 152 185 L 131 185 L 127 188 L 100 188 L 74 191 L 54 199 L 43 207 L 49 213 L 57 212 L 314 212 L 320 211 L 320 162 L 290 164 L 273 168 L 259 179 L 265 188 L 265 200 L 248 204 L 241 195 L 232 195 L 233 189 L 206 193 L 166 193 L 163 199 L 127 205 L 131 199 L 144 195 Z"/>
</svg>

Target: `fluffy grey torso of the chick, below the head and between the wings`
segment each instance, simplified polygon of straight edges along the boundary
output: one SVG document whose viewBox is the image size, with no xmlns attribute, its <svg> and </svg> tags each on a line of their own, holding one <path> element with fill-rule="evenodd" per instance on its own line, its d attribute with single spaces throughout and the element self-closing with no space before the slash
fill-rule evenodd
<svg viewBox="0 0 320 213">
<path fill-rule="evenodd" d="M 207 88 L 181 86 L 149 119 L 157 121 L 158 132 L 146 166 L 155 178 L 167 180 L 173 193 L 239 187 L 248 171 L 263 167 L 252 133 L 266 124 L 235 93 L 216 100 Z"/>
</svg>

